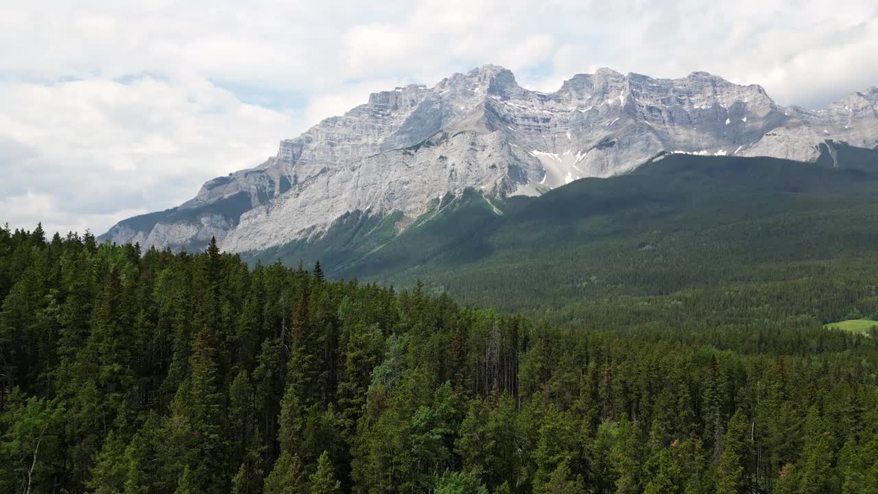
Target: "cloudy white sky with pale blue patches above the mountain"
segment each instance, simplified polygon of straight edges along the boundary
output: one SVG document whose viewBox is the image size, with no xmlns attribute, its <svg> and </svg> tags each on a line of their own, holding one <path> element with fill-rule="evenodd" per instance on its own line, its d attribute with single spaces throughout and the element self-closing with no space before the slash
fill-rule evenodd
<svg viewBox="0 0 878 494">
<path fill-rule="evenodd" d="M 484 63 L 558 89 L 706 70 L 819 107 L 878 85 L 873 0 L 0 0 L 0 223 L 103 233 L 365 102 Z"/>
</svg>

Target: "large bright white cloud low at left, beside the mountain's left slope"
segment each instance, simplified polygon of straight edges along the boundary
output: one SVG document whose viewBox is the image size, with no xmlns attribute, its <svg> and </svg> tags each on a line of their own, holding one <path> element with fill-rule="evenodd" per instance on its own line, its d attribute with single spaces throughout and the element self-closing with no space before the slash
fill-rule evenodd
<svg viewBox="0 0 878 494">
<path fill-rule="evenodd" d="M 257 164 L 292 129 L 284 114 L 196 77 L 9 85 L 0 198 L 12 202 L 0 221 L 30 228 L 41 217 L 63 229 L 78 214 L 103 232 L 132 209 L 174 206 L 205 178 Z"/>
</svg>

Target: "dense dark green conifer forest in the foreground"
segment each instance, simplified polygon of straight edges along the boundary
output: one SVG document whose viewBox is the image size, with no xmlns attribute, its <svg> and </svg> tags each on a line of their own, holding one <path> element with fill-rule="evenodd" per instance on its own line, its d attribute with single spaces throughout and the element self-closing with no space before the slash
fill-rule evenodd
<svg viewBox="0 0 878 494">
<path fill-rule="evenodd" d="M 0 229 L 0 490 L 875 492 L 875 338 L 752 290 L 558 329 L 215 243 Z"/>
</svg>

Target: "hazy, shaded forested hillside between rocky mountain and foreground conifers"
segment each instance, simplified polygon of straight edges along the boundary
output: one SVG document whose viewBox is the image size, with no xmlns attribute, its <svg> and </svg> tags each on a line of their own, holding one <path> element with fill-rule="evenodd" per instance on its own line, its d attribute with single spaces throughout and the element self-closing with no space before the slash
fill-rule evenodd
<svg viewBox="0 0 878 494">
<path fill-rule="evenodd" d="M 259 258 L 320 259 L 335 279 L 422 280 L 428 294 L 571 329 L 878 317 L 878 152 L 833 146 L 821 163 L 664 156 L 539 198 L 468 191 L 399 236 L 399 217 L 349 214 Z"/>
</svg>

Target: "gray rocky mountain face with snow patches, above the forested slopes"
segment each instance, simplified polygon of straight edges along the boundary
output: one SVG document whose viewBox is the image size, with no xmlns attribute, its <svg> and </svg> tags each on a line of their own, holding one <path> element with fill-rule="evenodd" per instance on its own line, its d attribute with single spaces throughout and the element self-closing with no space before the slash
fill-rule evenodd
<svg viewBox="0 0 878 494">
<path fill-rule="evenodd" d="M 486 65 L 433 88 L 372 94 L 281 142 L 260 166 L 214 178 L 182 206 L 119 222 L 102 239 L 199 248 L 215 235 L 227 251 L 259 251 L 320 236 L 349 211 L 414 218 L 467 187 L 535 195 L 662 152 L 808 161 L 827 140 L 878 146 L 876 108 L 876 88 L 812 112 L 704 72 L 671 80 L 599 69 L 547 94 Z"/>
</svg>

